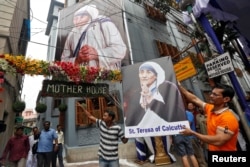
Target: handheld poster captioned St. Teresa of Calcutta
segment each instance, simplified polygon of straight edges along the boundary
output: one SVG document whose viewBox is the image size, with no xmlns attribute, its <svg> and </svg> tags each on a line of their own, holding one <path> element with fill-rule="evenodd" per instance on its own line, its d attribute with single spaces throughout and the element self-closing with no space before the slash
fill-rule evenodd
<svg viewBox="0 0 250 167">
<path fill-rule="evenodd" d="M 122 75 L 126 137 L 173 135 L 189 127 L 170 57 L 126 66 Z"/>
</svg>

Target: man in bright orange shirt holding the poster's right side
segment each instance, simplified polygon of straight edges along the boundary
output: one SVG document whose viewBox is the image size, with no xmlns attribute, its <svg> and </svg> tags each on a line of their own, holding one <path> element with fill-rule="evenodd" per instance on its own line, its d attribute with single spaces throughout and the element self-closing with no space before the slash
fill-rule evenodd
<svg viewBox="0 0 250 167">
<path fill-rule="evenodd" d="M 234 97 L 233 88 L 217 83 L 210 94 L 210 104 L 203 102 L 180 84 L 179 89 L 188 101 L 201 107 L 207 114 L 207 135 L 188 128 L 180 134 L 194 135 L 202 142 L 208 143 L 209 151 L 236 151 L 239 124 L 227 105 Z"/>
</svg>

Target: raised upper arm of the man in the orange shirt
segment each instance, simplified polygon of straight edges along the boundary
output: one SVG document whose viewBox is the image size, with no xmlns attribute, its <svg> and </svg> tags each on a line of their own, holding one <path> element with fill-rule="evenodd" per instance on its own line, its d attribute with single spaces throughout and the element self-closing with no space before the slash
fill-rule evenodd
<svg viewBox="0 0 250 167">
<path fill-rule="evenodd" d="M 179 84 L 179 90 L 180 92 L 186 97 L 186 99 L 192 103 L 194 103 L 196 106 L 201 107 L 202 109 L 204 108 L 205 102 L 199 99 L 197 96 L 194 94 L 190 93 L 188 90 L 186 90 L 184 87 L 182 87 Z"/>
</svg>

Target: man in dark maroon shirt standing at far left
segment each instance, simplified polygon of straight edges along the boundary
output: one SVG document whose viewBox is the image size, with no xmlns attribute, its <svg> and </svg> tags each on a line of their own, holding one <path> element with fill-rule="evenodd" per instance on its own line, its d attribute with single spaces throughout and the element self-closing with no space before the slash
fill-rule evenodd
<svg viewBox="0 0 250 167">
<path fill-rule="evenodd" d="M 3 151 L 0 162 L 9 167 L 24 167 L 26 158 L 30 150 L 29 138 L 23 134 L 23 126 L 18 126 L 15 129 L 15 134 L 11 137 Z M 8 157 L 8 163 L 6 159 Z"/>
</svg>

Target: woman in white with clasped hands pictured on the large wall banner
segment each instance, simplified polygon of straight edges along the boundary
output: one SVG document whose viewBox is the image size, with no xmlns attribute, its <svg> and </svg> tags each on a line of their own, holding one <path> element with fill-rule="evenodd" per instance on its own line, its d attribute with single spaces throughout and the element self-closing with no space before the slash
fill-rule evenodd
<svg viewBox="0 0 250 167">
<path fill-rule="evenodd" d="M 97 7 L 88 4 L 74 13 L 73 23 L 61 61 L 120 70 L 127 47 L 111 19 L 99 15 Z"/>
</svg>

